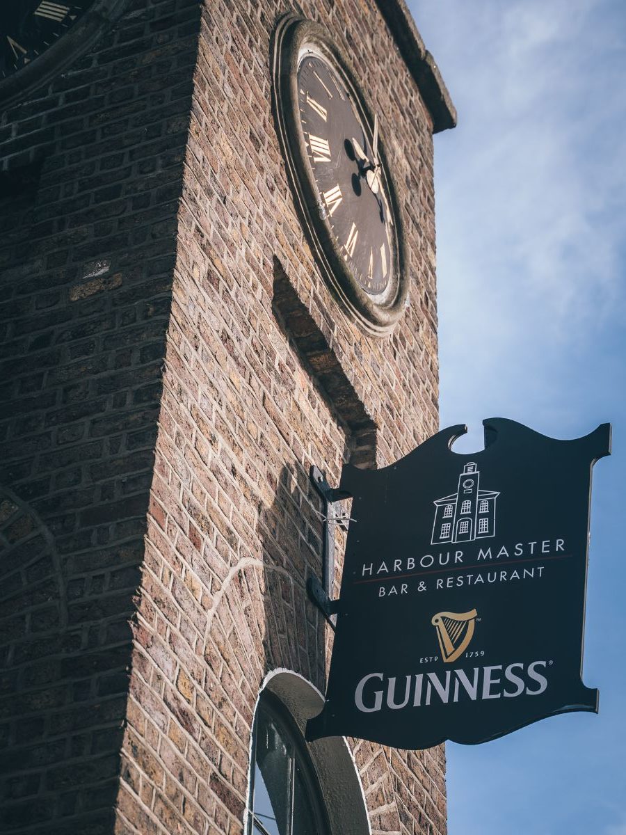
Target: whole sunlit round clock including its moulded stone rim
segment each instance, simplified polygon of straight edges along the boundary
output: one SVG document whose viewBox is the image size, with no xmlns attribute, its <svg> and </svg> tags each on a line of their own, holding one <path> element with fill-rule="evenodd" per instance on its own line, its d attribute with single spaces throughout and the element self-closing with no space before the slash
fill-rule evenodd
<svg viewBox="0 0 626 835">
<path fill-rule="evenodd" d="M 351 316 L 384 334 L 401 316 L 407 288 L 377 114 L 315 23 L 281 21 L 273 58 L 276 121 L 317 261 Z"/>
</svg>

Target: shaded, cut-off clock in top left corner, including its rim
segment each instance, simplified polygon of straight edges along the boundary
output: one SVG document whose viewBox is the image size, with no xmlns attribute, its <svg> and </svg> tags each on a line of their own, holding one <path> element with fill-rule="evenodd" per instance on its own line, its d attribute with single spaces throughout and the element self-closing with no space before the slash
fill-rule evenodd
<svg viewBox="0 0 626 835">
<path fill-rule="evenodd" d="M 2 0 L 0 100 L 4 105 L 46 83 L 84 52 L 126 0 Z"/>
</svg>

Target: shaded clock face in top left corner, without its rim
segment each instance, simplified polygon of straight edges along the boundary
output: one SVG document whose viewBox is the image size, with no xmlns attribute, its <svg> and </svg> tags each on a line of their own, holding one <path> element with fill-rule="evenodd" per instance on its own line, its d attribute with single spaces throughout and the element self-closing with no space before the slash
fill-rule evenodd
<svg viewBox="0 0 626 835">
<path fill-rule="evenodd" d="M 2 0 L 0 79 L 8 78 L 58 42 L 93 5 L 93 0 Z"/>
</svg>

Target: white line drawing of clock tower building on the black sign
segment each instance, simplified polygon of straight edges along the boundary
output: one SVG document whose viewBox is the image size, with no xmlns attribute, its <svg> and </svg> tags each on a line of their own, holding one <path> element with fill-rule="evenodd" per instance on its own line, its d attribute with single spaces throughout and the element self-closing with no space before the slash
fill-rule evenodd
<svg viewBox="0 0 626 835">
<path fill-rule="evenodd" d="M 476 464 L 468 462 L 458 477 L 456 493 L 437 498 L 432 545 L 447 542 L 471 542 L 496 534 L 496 499 L 494 490 L 480 489 Z"/>
</svg>

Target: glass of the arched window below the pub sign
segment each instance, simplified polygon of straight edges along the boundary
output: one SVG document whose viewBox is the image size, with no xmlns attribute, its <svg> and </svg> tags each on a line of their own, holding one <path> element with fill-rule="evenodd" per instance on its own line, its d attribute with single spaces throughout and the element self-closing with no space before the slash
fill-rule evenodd
<svg viewBox="0 0 626 835">
<path fill-rule="evenodd" d="M 252 741 L 247 835 L 330 835 L 306 743 L 285 706 L 264 693 Z"/>
</svg>

